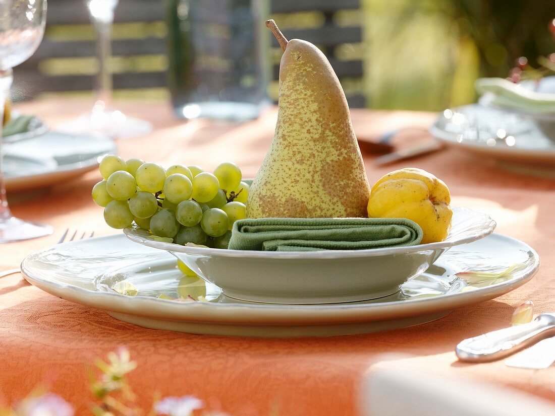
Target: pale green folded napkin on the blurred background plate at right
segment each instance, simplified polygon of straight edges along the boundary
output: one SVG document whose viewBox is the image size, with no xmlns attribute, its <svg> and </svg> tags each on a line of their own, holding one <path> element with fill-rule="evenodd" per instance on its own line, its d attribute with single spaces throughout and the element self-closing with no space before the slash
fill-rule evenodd
<svg viewBox="0 0 555 416">
<path fill-rule="evenodd" d="M 476 92 L 490 94 L 492 104 L 537 113 L 555 112 L 555 94 L 537 93 L 503 78 L 476 80 Z"/>
</svg>

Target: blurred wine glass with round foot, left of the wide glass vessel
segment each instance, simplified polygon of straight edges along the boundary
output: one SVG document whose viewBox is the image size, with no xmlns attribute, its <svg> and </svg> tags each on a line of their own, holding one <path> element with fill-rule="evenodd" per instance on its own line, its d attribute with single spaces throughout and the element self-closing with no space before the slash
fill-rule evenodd
<svg viewBox="0 0 555 416">
<path fill-rule="evenodd" d="M 148 121 L 128 117 L 112 108 L 112 73 L 109 60 L 112 55 L 110 34 L 114 23 L 114 9 L 119 0 L 84 0 L 90 21 L 97 32 L 98 75 L 96 102 L 93 109 L 77 120 L 62 126 L 73 133 L 100 132 L 111 138 L 142 136 L 152 131 Z"/>
</svg>

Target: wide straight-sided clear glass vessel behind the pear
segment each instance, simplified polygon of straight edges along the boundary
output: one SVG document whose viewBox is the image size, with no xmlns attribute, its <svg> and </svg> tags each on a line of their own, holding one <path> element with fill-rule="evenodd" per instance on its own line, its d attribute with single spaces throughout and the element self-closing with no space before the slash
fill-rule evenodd
<svg viewBox="0 0 555 416">
<path fill-rule="evenodd" d="M 264 0 L 166 0 L 169 88 L 185 119 L 250 120 L 270 104 Z"/>
</svg>

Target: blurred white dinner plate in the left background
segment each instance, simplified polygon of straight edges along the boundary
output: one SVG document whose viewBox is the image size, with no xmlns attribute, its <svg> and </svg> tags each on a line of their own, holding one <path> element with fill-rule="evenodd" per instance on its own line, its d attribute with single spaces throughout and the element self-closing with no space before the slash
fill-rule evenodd
<svg viewBox="0 0 555 416">
<path fill-rule="evenodd" d="M 52 186 L 93 170 L 99 159 L 115 153 L 103 136 L 47 132 L 4 146 L 4 178 L 8 192 Z"/>
</svg>

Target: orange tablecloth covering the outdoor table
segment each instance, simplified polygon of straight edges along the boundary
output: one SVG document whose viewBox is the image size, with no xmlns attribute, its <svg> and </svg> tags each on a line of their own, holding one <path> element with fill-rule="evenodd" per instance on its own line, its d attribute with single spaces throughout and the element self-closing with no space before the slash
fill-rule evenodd
<svg viewBox="0 0 555 416">
<path fill-rule="evenodd" d="M 19 106 L 49 124 L 69 120 L 88 103 L 47 100 Z M 122 105 L 130 115 L 154 123 L 143 138 L 118 141 L 124 158 L 199 164 L 214 168 L 221 161 L 238 163 L 245 177 L 254 176 L 273 136 L 276 113 L 244 125 L 173 118 L 168 105 Z M 359 136 L 379 136 L 400 125 L 427 126 L 429 113 L 353 111 Z M 406 131 L 396 140 L 426 139 Z M 555 181 L 499 170 L 495 163 L 450 149 L 397 165 L 375 168 L 365 155 L 373 182 L 403 166 L 416 166 L 445 179 L 453 204 L 475 208 L 497 220 L 497 232 L 524 240 L 537 249 L 542 266 L 536 277 L 498 299 L 456 310 L 447 317 L 412 328 L 359 336 L 297 339 L 250 339 L 198 336 L 148 330 L 119 322 L 103 311 L 72 304 L 28 285 L 21 275 L 0 280 L 0 404 L 26 396 L 37 384 L 87 414 L 91 398 L 84 363 L 125 345 L 138 361 L 130 383 L 147 405 L 153 392 L 162 396 L 193 394 L 236 415 L 354 414 L 361 374 L 381 353 L 408 354 L 404 365 L 422 372 L 470 377 L 512 386 L 555 401 L 555 368 L 531 373 L 503 363 L 462 364 L 453 349 L 463 338 L 508 325 L 514 307 L 533 300 L 536 312 L 555 311 Z M 58 241 L 63 230 L 114 230 L 103 223 L 102 209 L 90 200 L 99 180 L 90 172 L 60 184 L 32 201 L 14 205 L 18 217 L 54 225 L 48 238 L 0 245 L 0 270 L 14 268 L 34 250 Z"/>
</svg>

